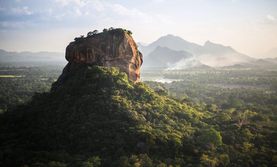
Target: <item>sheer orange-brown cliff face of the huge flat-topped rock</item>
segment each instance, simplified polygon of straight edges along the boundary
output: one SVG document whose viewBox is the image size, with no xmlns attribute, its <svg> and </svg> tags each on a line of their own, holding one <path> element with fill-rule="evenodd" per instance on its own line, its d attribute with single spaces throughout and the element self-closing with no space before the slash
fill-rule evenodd
<svg viewBox="0 0 277 167">
<path fill-rule="evenodd" d="M 113 35 L 96 34 L 71 42 L 66 47 L 66 60 L 69 61 L 57 82 L 64 82 L 78 68 L 99 65 L 118 67 L 126 72 L 128 79 L 135 82 L 140 78 L 142 54 L 127 33 Z"/>
</svg>

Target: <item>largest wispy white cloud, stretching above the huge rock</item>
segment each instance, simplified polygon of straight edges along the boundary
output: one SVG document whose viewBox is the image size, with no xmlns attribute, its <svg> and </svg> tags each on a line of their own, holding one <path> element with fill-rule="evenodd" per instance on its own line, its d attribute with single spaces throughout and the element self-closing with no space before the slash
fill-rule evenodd
<svg viewBox="0 0 277 167">
<path fill-rule="evenodd" d="M 152 1 L 152 0 L 151 0 Z M 121 22 L 141 24 L 147 23 L 171 23 L 172 19 L 163 15 L 149 15 L 143 13 L 136 8 L 126 8 L 120 4 L 110 3 L 102 0 L 52 0 L 54 3 L 66 5 L 69 10 L 67 12 L 57 13 L 55 18 L 61 20 L 69 17 L 80 17 L 90 15 L 91 19 L 102 20 L 105 22 L 115 22 L 121 18 Z M 82 11 L 86 11 L 83 12 Z"/>
</svg>

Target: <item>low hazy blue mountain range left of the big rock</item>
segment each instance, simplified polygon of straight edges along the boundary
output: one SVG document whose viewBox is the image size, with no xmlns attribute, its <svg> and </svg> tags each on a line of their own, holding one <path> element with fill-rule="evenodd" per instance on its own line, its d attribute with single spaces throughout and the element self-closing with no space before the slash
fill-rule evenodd
<svg viewBox="0 0 277 167">
<path fill-rule="evenodd" d="M 60 52 L 7 52 L 0 50 L 0 62 L 66 61 Z"/>
</svg>

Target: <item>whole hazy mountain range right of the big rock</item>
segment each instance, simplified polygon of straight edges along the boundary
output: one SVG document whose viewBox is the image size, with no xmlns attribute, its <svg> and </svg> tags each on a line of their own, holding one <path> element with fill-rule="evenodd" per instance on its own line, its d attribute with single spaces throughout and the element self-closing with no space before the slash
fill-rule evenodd
<svg viewBox="0 0 277 167">
<path fill-rule="evenodd" d="M 143 67 L 172 67 L 172 64 L 178 64 L 178 61 L 183 62 L 187 67 L 186 61 L 197 60 L 201 64 L 211 67 L 233 66 L 241 64 L 245 66 L 275 66 L 276 59 L 264 59 L 264 61 L 252 58 L 242 54 L 231 48 L 221 44 L 214 44 L 211 41 L 206 41 L 203 46 L 194 44 L 180 38 L 168 34 L 149 45 L 138 44 L 138 50 L 144 55 Z M 183 51 L 183 52 L 182 52 Z M 185 52 L 184 52 L 185 51 Z M 272 64 L 273 63 L 273 64 Z M 180 64 L 178 68 L 180 68 Z M 177 67 L 176 67 L 177 69 Z"/>
</svg>

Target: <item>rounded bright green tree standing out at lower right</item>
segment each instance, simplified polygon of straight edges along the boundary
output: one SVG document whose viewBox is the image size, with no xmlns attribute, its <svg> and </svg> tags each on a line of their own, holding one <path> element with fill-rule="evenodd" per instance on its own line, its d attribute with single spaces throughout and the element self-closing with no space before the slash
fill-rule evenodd
<svg viewBox="0 0 277 167">
<path fill-rule="evenodd" d="M 222 137 L 220 136 L 220 133 L 214 129 L 202 133 L 199 140 L 214 144 L 215 146 L 221 146 L 222 144 Z"/>
</svg>

